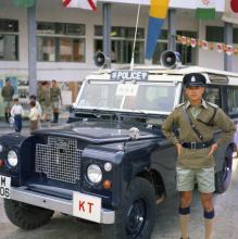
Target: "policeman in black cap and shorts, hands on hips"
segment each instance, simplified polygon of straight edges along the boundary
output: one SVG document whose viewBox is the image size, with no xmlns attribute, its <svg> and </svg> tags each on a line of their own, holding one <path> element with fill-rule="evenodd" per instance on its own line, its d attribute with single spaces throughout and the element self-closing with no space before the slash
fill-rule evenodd
<svg viewBox="0 0 238 239">
<path fill-rule="evenodd" d="M 236 127 L 231 120 L 216 104 L 205 101 L 205 77 L 199 73 L 184 76 L 183 84 L 188 101 L 179 104 L 162 126 L 164 135 L 177 149 L 177 190 L 180 192 L 179 225 L 181 238 L 187 239 L 188 219 L 195 180 L 201 193 L 205 221 L 205 239 L 211 239 L 214 222 L 214 158 L 213 153 L 231 139 Z M 177 128 L 178 134 L 174 134 Z M 214 140 L 214 128 L 222 134 Z"/>
</svg>

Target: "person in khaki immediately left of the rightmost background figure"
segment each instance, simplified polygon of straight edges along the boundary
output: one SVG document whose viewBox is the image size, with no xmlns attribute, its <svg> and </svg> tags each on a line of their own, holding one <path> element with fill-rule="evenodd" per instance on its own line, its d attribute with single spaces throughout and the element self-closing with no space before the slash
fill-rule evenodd
<svg viewBox="0 0 238 239">
<path fill-rule="evenodd" d="M 37 93 L 39 103 L 42 109 L 41 120 L 48 122 L 51 112 L 50 88 L 47 81 L 42 81 Z"/>
</svg>

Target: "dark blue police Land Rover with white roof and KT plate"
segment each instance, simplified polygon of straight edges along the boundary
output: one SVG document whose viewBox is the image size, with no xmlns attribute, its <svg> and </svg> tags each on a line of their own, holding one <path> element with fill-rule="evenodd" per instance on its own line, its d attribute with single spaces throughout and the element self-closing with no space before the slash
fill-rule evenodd
<svg viewBox="0 0 238 239">
<path fill-rule="evenodd" d="M 202 73 L 206 100 L 238 121 L 238 74 L 175 67 L 170 51 L 162 62 L 89 75 L 68 124 L 0 137 L 0 194 L 14 225 L 34 229 L 59 211 L 101 224 L 107 239 L 150 238 L 156 203 L 176 193 L 176 150 L 161 125 L 184 100 L 183 76 Z M 215 154 L 220 193 L 230 181 L 236 138 Z"/>
</svg>

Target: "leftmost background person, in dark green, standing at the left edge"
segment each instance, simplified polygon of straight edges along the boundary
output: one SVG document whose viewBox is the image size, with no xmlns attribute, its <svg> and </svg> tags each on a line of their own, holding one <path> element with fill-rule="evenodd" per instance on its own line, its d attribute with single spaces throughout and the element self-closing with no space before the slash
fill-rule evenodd
<svg viewBox="0 0 238 239">
<path fill-rule="evenodd" d="M 4 103 L 5 122 L 9 123 L 12 98 L 14 95 L 14 88 L 11 86 L 9 79 L 5 80 L 5 86 L 2 88 L 1 96 Z"/>
</svg>

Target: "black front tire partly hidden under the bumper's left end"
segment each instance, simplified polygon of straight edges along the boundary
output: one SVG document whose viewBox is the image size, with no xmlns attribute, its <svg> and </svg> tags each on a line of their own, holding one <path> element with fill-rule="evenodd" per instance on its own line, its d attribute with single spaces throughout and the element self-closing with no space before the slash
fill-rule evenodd
<svg viewBox="0 0 238 239">
<path fill-rule="evenodd" d="M 32 230 L 50 222 L 53 211 L 4 199 L 4 211 L 9 221 L 15 226 Z"/>
</svg>

